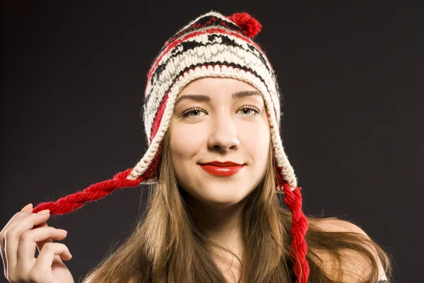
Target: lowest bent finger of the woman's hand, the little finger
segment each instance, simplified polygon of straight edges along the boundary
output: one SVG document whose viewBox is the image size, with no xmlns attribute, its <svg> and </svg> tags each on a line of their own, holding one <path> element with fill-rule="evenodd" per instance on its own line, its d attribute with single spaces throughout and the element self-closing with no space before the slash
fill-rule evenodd
<svg viewBox="0 0 424 283">
<path fill-rule="evenodd" d="M 33 269 L 51 269 L 55 255 L 59 255 L 62 260 L 70 260 L 72 258 L 68 247 L 66 247 L 63 243 L 45 243 L 40 250 L 40 254 L 37 257 L 37 261 L 35 262 Z"/>
</svg>

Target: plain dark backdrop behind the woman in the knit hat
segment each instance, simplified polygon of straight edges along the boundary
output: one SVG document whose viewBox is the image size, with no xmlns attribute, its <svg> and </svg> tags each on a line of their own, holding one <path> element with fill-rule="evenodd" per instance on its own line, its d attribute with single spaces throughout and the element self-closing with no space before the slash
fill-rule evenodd
<svg viewBox="0 0 424 283">
<path fill-rule="evenodd" d="M 134 166 L 146 151 L 139 113 L 160 47 L 201 13 L 247 11 L 264 27 L 256 40 L 283 92 L 283 143 L 305 214 L 355 221 L 393 255 L 396 282 L 418 282 L 423 6 L 275 3 L 2 3 L 0 226 L 29 202 Z M 76 282 L 129 235 L 143 188 L 48 221 L 69 231 L 62 243 Z"/>
</svg>

